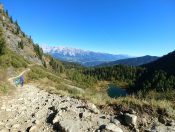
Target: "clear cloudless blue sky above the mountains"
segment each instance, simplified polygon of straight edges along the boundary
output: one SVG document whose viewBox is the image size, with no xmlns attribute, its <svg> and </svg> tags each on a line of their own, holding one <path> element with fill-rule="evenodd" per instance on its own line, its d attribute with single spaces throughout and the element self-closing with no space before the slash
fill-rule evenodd
<svg viewBox="0 0 175 132">
<path fill-rule="evenodd" d="M 175 50 L 175 0 L 0 0 L 34 42 L 113 54 Z"/>
</svg>

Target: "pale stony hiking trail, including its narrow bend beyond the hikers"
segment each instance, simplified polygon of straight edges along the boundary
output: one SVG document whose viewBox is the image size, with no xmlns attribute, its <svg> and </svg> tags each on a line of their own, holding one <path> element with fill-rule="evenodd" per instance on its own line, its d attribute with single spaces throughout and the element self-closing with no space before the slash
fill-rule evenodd
<svg viewBox="0 0 175 132">
<path fill-rule="evenodd" d="M 26 69 L 8 81 L 13 84 L 15 78 L 29 71 Z M 1 132 L 92 132 L 109 122 L 110 116 L 100 113 L 94 104 L 50 94 L 32 84 L 0 97 Z"/>
</svg>

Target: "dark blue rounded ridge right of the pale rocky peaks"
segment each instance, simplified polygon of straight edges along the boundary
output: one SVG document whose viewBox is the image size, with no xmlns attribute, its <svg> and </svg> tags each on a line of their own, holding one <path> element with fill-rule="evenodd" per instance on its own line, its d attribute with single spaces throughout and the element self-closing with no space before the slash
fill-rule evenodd
<svg viewBox="0 0 175 132">
<path fill-rule="evenodd" d="M 128 59 L 121 59 L 117 61 L 112 61 L 108 63 L 100 64 L 99 66 L 113 66 L 113 65 L 129 65 L 129 66 L 139 66 L 146 63 L 153 62 L 157 60 L 159 57 L 157 56 L 142 56 L 136 58 L 128 58 Z"/>
</svg>

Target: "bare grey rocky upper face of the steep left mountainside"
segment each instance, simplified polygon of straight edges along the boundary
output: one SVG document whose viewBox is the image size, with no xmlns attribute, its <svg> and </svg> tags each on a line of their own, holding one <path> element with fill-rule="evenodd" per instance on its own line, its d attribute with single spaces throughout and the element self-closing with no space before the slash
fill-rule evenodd
<svg viewBox="0 0 175 132">
<path fill-rule="evenodd" d="M 0 27 L 3 29 L 7 48 L 23 56 L 26 60 L 41 64 L 41 60 L 34 50 L 34 43 L 31 37 L 21 31 L 18 22 L 14 22 L 8 12 L 1 10 Z"/>
</svg>

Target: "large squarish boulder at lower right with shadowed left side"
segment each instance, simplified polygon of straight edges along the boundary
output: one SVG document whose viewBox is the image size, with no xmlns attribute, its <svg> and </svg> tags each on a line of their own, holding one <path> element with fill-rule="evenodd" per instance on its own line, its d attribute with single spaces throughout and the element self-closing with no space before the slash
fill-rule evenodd
<svg viewBox="0 0 175 132">
<path fill-rule="evenodd" d="M 131 126 L 137 125 L 137 116 L 136 115 L 126 113 L 126 114 L 124 114 L 124 118 L 125 118 L 125 123 L 127 125 L 131 125 Z"/>
</svg>

